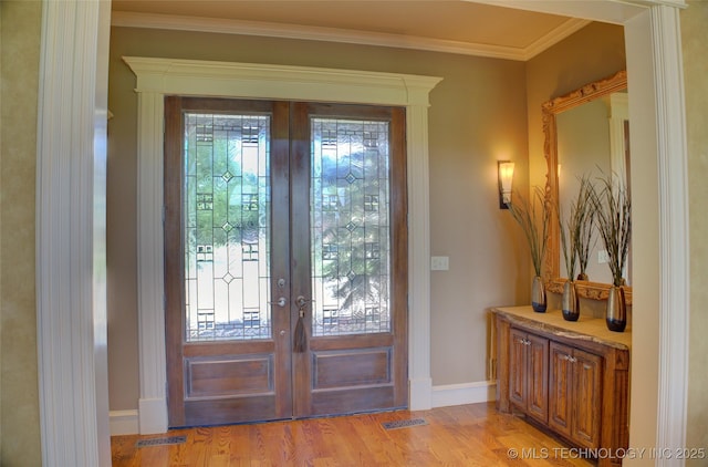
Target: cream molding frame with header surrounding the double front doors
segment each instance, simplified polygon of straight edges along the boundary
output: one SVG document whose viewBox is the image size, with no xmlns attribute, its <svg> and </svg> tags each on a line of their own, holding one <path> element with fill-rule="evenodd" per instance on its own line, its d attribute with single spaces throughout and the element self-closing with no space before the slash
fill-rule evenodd
<svg viewBox="0 0 708 467">
<path fill-rule="evenodd" d="M 430 376 L 429 92 L 437 76 L 124 56 L 137 76 L 137 235 L 140 434 L 167 430 L 164 310 L 164 97 L 319 101 L 406 107 L 409 407 L 433 404 Z"/>
</svg>

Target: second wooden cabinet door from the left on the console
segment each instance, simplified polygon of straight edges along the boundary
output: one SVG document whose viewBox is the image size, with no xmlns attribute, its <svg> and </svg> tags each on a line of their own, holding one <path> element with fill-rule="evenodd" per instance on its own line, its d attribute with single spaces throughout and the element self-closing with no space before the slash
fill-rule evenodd
<svg viewBox="0 0 708 467">
<path fill-rule="evenodd" d="M 527 335 L 528 406 L 527 413 L 546 423 L 549 421 L 549 340 Z"/>
</svg>

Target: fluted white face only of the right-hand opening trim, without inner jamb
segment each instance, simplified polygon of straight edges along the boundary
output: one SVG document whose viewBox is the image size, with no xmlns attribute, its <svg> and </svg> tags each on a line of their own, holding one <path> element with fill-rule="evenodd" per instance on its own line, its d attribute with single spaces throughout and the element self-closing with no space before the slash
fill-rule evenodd
<svg viewBox="0 0 708 467">
<path fill-rule="evenodd" d="M 686 447 L 690 250 L 688 235 L 688 152 L 679 10 L 652 9 L 654 33 L 662 258 L 659 388 L 656 445 Z M 657 465 L 684 465 L 662 458 Z"/>
</svg>

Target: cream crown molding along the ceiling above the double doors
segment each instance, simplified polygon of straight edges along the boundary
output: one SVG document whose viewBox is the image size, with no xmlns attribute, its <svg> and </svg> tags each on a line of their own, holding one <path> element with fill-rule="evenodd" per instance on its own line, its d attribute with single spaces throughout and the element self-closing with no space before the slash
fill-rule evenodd
<svg viewBox="0 0 708 467">
<path fill-rule="evenodd" d="M 325 27 L 303 27 L 261 21 L 243 21 L 221 18 L 181 17 L 156 13 L 114 11 L 113 27 L 146 28 L 175 31 L 209 32 L 219 34 L 259 35 L 269 38 L 326 41 L 360 45 L 389 46 L 456 53 L 492 59 L 527 61 L 549 46 L 562 41 L 590 21 L 571 18 L 559 28 L 543 35 L 527 48 L 479 44 L 415 35 L 354 31 Z"/>
</svg>

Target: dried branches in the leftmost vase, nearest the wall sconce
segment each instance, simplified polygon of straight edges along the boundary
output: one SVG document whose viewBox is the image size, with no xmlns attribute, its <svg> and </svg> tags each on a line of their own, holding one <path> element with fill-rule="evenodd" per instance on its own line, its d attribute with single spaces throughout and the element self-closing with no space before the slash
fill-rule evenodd
<svg viewBox="0 0 708 467">
<path fill-rule="evenodd" d="M 543 258 L 549 241 L 549 221 L 551 219 L 551 209 L 545 203 L 543 190 L 539 187 L 534 189 L 534 196 L 531 200 L 516 193 L 512 203 L 510 203 L 509 211 L 517 221 L 529 243 L 531 250 L 531 262 L 535 276 L 541 276 Z"/>
</svg>

